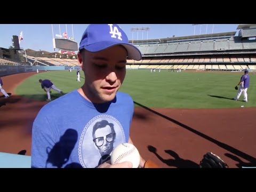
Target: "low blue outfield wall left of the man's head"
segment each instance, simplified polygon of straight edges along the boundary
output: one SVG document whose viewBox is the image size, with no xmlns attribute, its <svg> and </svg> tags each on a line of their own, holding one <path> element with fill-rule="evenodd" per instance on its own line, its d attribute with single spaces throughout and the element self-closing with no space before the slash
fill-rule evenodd
<svg viewBox="0 0 256 192">
<path fill-rule="evenodd" d="M 79 68 L 78 66 L 8 66 L 8 65 L 0 65 L 0 77 L 18 74 L 18 73 L 26 73 L 31 71 L 47 71 L 47 70 L 68 70 L 68 69 L 76 70 Z"/>
</svg>

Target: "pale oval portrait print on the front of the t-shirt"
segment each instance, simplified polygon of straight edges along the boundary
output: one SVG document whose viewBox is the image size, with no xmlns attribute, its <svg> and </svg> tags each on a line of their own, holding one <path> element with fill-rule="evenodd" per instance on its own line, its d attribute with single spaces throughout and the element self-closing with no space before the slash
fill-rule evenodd
<svg viewBox="0 0 256 192">
<path fill-rule="evenodd" d="M 95 116 L 84 127 L 79 140 L 79 161 L 83 167 L 96 167 L 108 161 L 112 150 L 123 142 L 124 130 L 115 117 Z"/>
</svg>

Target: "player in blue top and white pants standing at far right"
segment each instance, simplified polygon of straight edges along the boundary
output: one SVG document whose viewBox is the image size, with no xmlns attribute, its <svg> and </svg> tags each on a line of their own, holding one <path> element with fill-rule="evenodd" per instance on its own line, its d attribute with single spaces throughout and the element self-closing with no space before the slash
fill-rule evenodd
<svg viewBox="0 0 256 192">
<path fill-rule="evenodd" d="M 241 94 L 243 93 L 244 95 L 244 102 L 248 102 L 247 99 L 247 89 L 249 87 L 250 84 L 250 76 L 248 75 L 249 70 L 245 70 L 244 71 L 244 75 L 241 76 L 239 83 L 236 86 L 239 86 L 239 89 L 237 91 L 237 95 L 234 98 L 234 100 L 238 100 L 239 97 L 241 96 Z"/>
</svg>

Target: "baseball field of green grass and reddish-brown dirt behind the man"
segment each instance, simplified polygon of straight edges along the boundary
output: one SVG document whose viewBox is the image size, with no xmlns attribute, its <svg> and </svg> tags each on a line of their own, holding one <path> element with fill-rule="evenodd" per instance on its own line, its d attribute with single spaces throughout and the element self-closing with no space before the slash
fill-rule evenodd
<svg viewBox="0 0 256 192">
<path fill-rule="evenodd" d="M 131 137 L 144 158 L 161 167 L 198 167 L 212 151 L 229 167 L 256 165 L 256 75 L 250 75 L 248 102 L 232 100 L 243 72 L 181 73 L 127 70 L 120 91 L 134 100 Z M 31 125 L 46 101 L 38 79 L 51 79 L 68 93 L 83 85 L 76 71 L 47 71 L 2 77 L 12 93 L 0 98 L 0 151 L 30 155 Z M 52 90 L 52 100 L 60 94 Z M 70 101 L 72 102 L 72 101 Z M 72 115 L 70 114 L 70 118 Z"/>
</svg>

